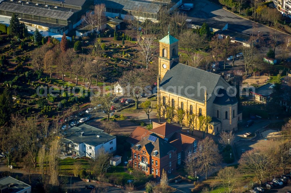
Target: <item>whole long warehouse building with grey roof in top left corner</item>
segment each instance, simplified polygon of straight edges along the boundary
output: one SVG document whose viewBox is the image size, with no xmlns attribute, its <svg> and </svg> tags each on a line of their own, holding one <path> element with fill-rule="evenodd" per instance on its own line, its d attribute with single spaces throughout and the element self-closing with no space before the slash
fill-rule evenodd
<svg viewBox="0 0 291 193">
<path fill-rule="evenodd" d="M 93 0 L 0 0 L 0 15 L 18 14 L 25 25 L 56 34 L 68 33 L 81 23 Z"/>
</svg>

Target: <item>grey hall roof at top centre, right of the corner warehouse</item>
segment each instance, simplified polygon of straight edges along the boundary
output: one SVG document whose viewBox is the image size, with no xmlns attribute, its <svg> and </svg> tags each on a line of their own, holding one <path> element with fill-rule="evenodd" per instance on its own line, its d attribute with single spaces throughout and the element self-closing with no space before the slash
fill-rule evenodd
<svg viewBox="0 0 291 193">
<path fill-rule="evenodd" d="M 139 11 L 146 13 L 157 13 L 162 7 L 162 3 L 144 0 L 100 0 L 107 8 Z"/>
</svg>

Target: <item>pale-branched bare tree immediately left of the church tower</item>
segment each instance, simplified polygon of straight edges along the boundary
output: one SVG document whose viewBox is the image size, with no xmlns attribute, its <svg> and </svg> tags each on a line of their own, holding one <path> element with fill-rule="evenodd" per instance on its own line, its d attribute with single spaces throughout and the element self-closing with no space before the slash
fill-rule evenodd
<svg viewBox="0 0 291 193">
<path fill-rule="evenodd" d="M 147 34 L 138 37 L 137 42 L 139 44 L 140 53 L 143 56 L 143 61 L 146 64 L 146 69 L 150 61 L 156 56 L 157 45 L 155 43 L 156 37 L 152 34 Z"/>
</svg>

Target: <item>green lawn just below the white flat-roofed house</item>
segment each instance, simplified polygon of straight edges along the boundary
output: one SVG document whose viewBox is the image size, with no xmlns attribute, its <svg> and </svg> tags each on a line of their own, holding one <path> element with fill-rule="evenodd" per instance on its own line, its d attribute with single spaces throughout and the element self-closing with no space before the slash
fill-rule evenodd
<svg viewBox="0 0 291 193">
<path fill-rule="evenodd" d="M 64 175 L 72 174 L 72 166 L 77 161 L 81 162 L 82 170 L 83 169 L 86 170 L 90 168 L 90 165 L 87 159 L 65 158 L 65 159 L 60 159 L 60 163 L 59 163 L 60 174 L 64 174 Z"/>
</svg>

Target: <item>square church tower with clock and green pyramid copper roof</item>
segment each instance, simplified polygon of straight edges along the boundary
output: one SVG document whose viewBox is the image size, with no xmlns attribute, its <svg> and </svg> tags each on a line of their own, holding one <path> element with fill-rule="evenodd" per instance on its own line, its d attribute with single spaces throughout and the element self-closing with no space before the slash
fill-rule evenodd
<svg viewBox="0 0 291 193">
<path fill-rule="evenodd" d="M 160 55 L 158 83 L 161 82 L 167 70 L 172 68 L 173 62 L 179 62 L 178 41 L 178 39 L 170 35 L 170 27 L 168 35 L 159 41 Z"/>
</svg>

